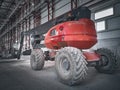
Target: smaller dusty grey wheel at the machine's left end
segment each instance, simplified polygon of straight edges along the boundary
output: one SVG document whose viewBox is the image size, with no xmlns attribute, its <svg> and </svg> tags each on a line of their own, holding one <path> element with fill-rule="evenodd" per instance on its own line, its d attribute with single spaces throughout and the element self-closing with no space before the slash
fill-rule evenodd
<svg viewBox="0 0 120 90">
<path fill-rule="evenodd" d="M 30 56 L 30 65 L 33 70 L 41 70 L 44 66 L 45 57 L 41 49 L 33 49 Z"/>
</svg>

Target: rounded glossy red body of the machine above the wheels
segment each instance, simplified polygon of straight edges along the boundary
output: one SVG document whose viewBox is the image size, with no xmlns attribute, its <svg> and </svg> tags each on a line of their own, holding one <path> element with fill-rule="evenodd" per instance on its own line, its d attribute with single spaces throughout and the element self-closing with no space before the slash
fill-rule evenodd
<svg viewBox="0 0 120 90">
<path fill-rule="evenodd" d="M 94 22 L 87 18 L 55 25 L 45 36 L 45 45 L 50 49 L 60 49 L 66 46 L 89 49 L 96 43 Z"/>
</svg>

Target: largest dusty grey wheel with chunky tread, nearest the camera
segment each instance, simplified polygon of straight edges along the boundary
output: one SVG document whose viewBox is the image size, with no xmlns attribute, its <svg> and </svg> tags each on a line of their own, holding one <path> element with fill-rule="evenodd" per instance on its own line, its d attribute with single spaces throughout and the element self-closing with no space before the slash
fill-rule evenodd
<svg viewBox="0 0 120 90">
<path fill-rule="evenodd" d="M 63 68 L 63 62 L 69 63 L 69 70 Z M 59 50 L 55 57 L 55 68 L 58 79 L 67 85 L 76 85 L 82 82 L 87 75 L 87 62 L 82 52 L 74 47 L 65 47 Z M 67 67 L 67 65 L 65 65 Z"/>
</svg>

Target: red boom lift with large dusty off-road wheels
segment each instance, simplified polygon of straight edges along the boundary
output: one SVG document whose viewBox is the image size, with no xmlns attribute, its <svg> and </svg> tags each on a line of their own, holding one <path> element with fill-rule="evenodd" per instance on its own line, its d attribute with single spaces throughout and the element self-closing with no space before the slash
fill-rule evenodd
<svg viewBox="0 0 120 90">
<path fill-rule="evenodd" d="M 67 85 L 82 82 L 87 77 L 88 66 L 94 66 L 101 73 L 113 73 L 116 69 L 113 52 L 106 48 L 86 51 L 97 43 L 95 25 L 90 15 L 91 11 L 87 7 L 80 7 L 63 20 L 56 20 L 55 25 L 51 24 L 47 29 L 41 27 L 44 33 L 44 30 L 48 30 L 45 38 L 42 36 L 44 33 L 34 33 L 36 38 L 33 40 L 31 68 L 41 70 L 45 60 L 55 60 L 57 76 Z M 42 40 L 47 51 L 40 47 Z M 22 43 L 20 51 L 21 48 Z"/>
</svg>

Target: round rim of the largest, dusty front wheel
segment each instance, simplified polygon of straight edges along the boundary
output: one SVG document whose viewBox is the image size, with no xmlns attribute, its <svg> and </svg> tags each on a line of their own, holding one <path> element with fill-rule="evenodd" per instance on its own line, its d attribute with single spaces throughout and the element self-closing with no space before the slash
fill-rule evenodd
<svg viewBox="0 0 120 90">
<path fill-rule="evenodd" d="M 60 68 L 65 74 L 68 74 L 70 72 L 70 62 L 68 61 L 66 57 L 61 58 Z"/>
</svg>

